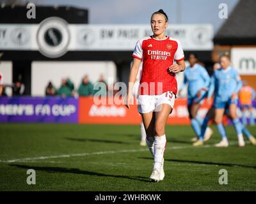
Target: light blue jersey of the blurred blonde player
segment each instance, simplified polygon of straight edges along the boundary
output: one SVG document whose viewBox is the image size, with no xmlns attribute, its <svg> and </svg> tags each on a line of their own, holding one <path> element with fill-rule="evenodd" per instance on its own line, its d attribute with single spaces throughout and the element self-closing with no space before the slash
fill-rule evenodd
<svg viewBox="0 0 256 204">
<path fill-rule="evenodd" d="M 214 89 L 214 104 L 228 102 L 232 103 L 233 92 L 238 92 L 242 87 L 241 78 L 236 69 L 229 66 L 227 69 L 217 69 L 211 77 L 209 95 Z M 236 99 L 237 100 L 237 99 Z"/>
</svg>

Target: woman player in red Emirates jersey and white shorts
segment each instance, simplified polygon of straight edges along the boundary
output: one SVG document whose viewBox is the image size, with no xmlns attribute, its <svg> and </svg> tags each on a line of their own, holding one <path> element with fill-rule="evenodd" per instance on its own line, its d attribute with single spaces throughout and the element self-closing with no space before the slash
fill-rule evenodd
<svg viewBox="0 0 256 204">
<path fill-rule="evenodd" d="M 172 113 L 177 95 L 175 73 L 184 71 L 184 52 L 180 41 L 164 34 L 168 17 L 163 10 L 156 11 L 150 19 L 152 36 L 138 41 L 129 76 L 129 88 L 125 106 L 133 103 L 132 87 L 138 69 L 143 61 L 138 96 L 138 112 L 141 113 L 147 133 L 148 149 L 154 156 L 154 167 L 150 179 L 154 182 L 164 179 L 163 155 L 166 146 L 165 124 Z M 177 64 L 174 64 L 174 60 Z"/>
</svg>

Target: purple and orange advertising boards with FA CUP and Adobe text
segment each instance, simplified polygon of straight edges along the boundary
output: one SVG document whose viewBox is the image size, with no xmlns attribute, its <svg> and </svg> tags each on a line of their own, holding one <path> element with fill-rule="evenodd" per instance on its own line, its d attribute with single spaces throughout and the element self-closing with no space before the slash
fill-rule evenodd
<svg viewBox="0 0 256 204">
<path fill-rule="evenodd" d="M 121 99 L 124 101 L 124 98 Z M 60 122 L 79 124 L 140 124 L 136 102 L 128 110 L 122 103 L 96 105 L 92 96 L 80 98 L 0 98 L 0 122 Z M 167 124 L 189 124 L 186 99 L 178 98 Z M 198 115 L 204 117 L 211 104 L 205 101 Z M 256 100 L 253 101 L 256 107 Z M 255 111 L 255 110 L 253 110 Z M 241 113 L 239 113 L 241 117 Z M 228 123 L 229 124 L 229 123 Z M 232 124 L 230 122 L 230 124 Z"/>
</svg>

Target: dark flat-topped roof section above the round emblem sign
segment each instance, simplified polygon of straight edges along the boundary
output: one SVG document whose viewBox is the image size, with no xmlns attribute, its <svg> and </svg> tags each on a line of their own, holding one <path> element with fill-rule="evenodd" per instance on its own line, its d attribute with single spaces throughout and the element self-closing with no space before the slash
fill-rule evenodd
<svg viewBox="0 0 256 204">
<path fill-rule="evenodd" d="M 36 6 L 36 18 L 27 18 L 26 6 L 0 7 L 0 24 L 39 24 L 48 17 L 61 17 L 69 24 L 88 24 L 88 10 L 72 6 Z"/>
</svg>

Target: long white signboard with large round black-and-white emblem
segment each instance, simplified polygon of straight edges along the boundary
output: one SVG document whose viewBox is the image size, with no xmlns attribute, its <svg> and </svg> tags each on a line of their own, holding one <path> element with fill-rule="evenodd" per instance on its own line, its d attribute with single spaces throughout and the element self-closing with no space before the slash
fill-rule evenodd
<svg viewBox="0 0 256 204">
<path fill-rule="evenodd" d="M 0 50 L 37 50 L 51 58 L 68 51 L 132 51 L 151 34 L 148 24 L 81 25 L 51 17 L 40 24 L 0 24 Z M 178 38 L 184 50 L 213 48 L 211 24 L 172 24 L 166 34 Z"/>
</svg>

